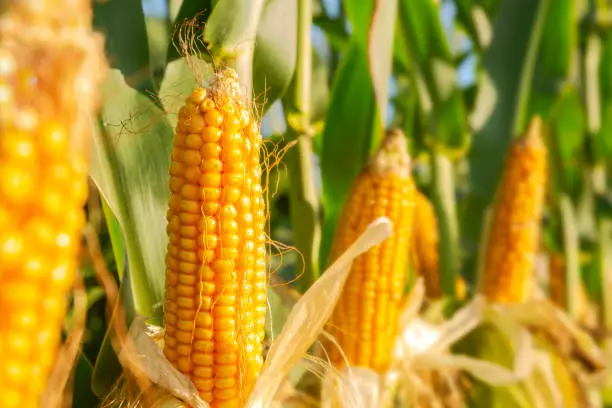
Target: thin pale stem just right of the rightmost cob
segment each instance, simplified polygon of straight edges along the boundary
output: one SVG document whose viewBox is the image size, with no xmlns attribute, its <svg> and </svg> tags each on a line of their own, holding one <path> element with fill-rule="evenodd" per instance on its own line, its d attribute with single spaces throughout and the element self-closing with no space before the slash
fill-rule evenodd
<svg viewBox="0 0 612 408">
<path fill-rule="evenodd" d="M 580 312 L 580 264 L 578 254 L 580 243 L 574 206 L 567 194 L 559 199 L 561 210 L 561 224 L 563 230 L 563 253 L 565 259 L 565 309 L 574 319 L 578 319 Z"/>
</svg>

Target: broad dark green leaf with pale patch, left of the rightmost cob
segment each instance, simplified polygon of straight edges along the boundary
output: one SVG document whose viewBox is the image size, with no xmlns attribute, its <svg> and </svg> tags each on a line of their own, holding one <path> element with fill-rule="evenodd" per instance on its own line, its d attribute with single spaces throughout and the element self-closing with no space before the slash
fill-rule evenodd
<svg viewBox="0 0 612 408">
<path fill-rule="evenodd" d="M 468 281 L 474 278 L 482 214 L 492 201 L 510 141 L 522 126 L 519 118 L 529 101 L 525 88 L 531 83 L 549 3 L 503 1 L 493 23 L 493 40 L 483 57 L 484 75 L 471 118 L 476 133 L 469 154 L 470 194 L 460 217 L 464 248 L 471 254 L 464 275 Z"/>
</svg>

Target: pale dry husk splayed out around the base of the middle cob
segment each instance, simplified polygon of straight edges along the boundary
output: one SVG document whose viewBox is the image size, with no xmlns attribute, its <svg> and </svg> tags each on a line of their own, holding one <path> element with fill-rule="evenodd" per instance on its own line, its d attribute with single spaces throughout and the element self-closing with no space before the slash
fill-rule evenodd
<svg viewBox="0 0 612 408">
<path fill-rule="evenodd" d="M 466 373 L 489 386 L 517 384 L 531 371 L 534 349 L 528 332 L 518 325 L 501 323 L 509 347 L 516 350 L 507 365 L 468 355 L 455 355 L 450 348 L 477 328 L 485 318 L 486 302 L 476 297 L 449 320 L 432 324 L 419 317 L 425 290 L 418 280 L 400 318 L 400 335 L 393 363 L 384 375 L 361 367 L 330 370 L 324 380 L 322 406 L 336 408 L 368 401 L 372 407 L 467 406 L 470 385 Z M 360 404 L 359 402 L 357 404 Z"/>
</svg>

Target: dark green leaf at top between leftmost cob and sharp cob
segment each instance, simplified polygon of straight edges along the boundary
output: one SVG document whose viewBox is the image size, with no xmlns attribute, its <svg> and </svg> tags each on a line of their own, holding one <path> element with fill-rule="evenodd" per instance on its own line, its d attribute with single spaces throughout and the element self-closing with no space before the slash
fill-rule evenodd
<svg viewBox="0 0 612 408">
<path fill-rule="evenodd" d="M 94 27 L 106 37 L 106 55 L 111 67 L 119 69 L 131 87 L 155 94 L 142 2 L 96 1 L 93 8 Z"/>
</svg>

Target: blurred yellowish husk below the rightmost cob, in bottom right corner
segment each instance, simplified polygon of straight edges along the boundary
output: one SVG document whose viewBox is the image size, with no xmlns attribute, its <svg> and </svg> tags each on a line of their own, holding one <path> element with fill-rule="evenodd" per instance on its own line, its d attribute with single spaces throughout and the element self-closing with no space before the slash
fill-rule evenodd
<svg viewBox="0 0 612 408">
<path fill-rule="evenodd" d="M 493 304 L 483 324 L 465 339 L 472 355 L 507 364 L 516 348 L 507 338 L 527 333 L 531 357 L 525 361 L 524 379 L 518 384 L 491 388 L 475 381 L 476 405 L 503 407 L 596 407 L 591 388 L 604 367 L 595 342 L 551 302 L 538 299 L 525 304 Z M 524 336 L 522 334 L 521 336 Z M 469 344 L 467 344 L 469 343 Z"/>
</svg>

